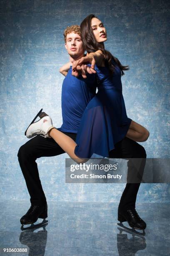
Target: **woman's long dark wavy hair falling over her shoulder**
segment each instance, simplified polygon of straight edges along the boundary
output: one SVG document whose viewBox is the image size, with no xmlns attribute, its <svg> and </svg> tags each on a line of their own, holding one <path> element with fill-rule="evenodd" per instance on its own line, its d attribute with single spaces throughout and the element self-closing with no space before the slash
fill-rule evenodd
<svg viewBox="0 0 170 256">
<path fill-rule="evenodd" d="M 112 59 L 117 63 L 117 65 L 121 69 L 121 74 L 124 75 L 123 70 L 129 70 L 129 66 L 122 66 L 120 61 L 114 57 L 109 51 L 105 50 L 104 43 L 98 43 L 95 39 L 94 33 L 91 28 L 91 20 L 92 18 L 97 18 L 94 14 L 88 15 L 80 24 L 82 41 L 85 47 L 85 50 L 90 52 L 95 52 L 97 50 L 101 50 L 105 55 L 106 65 L 110 70 L 110 74 L 113 74 L 115 66 L 112 64 Z"/>
</svg>

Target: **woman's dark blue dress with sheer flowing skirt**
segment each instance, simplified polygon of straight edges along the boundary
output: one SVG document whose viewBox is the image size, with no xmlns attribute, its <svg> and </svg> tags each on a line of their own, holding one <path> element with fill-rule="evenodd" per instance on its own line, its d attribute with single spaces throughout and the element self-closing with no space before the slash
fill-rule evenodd
<svg viewBox="0 0 170 256">
<path fill-rule="evenodd" d="M 98 92 L 84 110 L 77 132 L 75 154 L 90 158 L 92 154 L 109 156 L 115 143 L 128 132 L 131 120 L 127 117 L 122 95 L 121 70 L 115 65 L 110 77 L 107 67 L 95 65 Z"/>
</svg>

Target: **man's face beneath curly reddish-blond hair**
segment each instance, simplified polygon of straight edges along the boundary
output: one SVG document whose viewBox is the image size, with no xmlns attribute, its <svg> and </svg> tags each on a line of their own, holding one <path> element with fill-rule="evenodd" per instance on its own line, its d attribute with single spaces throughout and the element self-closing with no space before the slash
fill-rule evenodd
<svg viewBox="0 0 170 256">
<path fill-rule="evenodd" d="M 84 48 L 82 39 L 78 34 L 74 32 L 67 34 L 65 48 L 68 54 L 74 59 L 84 54 Z"/>
</svg>

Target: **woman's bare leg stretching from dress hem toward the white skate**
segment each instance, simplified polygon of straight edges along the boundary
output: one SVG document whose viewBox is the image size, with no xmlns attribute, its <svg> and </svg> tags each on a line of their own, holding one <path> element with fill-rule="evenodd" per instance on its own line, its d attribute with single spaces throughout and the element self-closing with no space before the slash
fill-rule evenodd
<svg viewBox="0 0 170 256">
<path fill-rule="evenodd" d="M 75 155 L 75 147 L 77 144 L 72 138 L 67 136 L 65 133 L 58 131 L 56 128 L 52 128 L 48 134 L 57 142 L 57 144 L 78 164 L 85 163 L 88 159 L 80 158 Z"/>
</svg>

